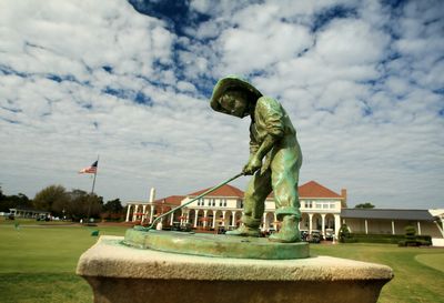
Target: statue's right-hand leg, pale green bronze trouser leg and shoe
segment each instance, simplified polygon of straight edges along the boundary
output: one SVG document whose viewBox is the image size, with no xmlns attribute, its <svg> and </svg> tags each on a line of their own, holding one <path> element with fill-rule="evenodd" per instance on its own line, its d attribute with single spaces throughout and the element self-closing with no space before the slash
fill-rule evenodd
<svg viewBox="0 0 444 303">
<path fill-rule="evenodd" d="M 283 150 L 276 153 L 272 163 L 272 185 L 276 204 L 276 218 L 281 229 L 269 239 L 276 242 L 299 242 L 301 220 L 297 182 L 302 156 L 300 153 Z"/>
</svg>

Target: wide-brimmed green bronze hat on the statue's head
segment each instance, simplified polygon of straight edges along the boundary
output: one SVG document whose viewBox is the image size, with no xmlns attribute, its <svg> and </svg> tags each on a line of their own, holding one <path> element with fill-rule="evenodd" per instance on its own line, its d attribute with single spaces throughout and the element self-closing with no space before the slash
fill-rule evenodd
<svg viewBox="0 0 444 303">
<path fill-rule="evenodd" d="M 213 110 L 226 113 L 224 109 L 222 109 L 219 103 L 219 99 L 230 90 L 243 90 L 246 92 L 248 101 L 250 103 L 255 103 L 259 98 L 262 97 L 262 93 L 254 88 L 252 84 L 243 80 L 238 75 L 228 75 L 218 81 L 213 89 L 213 95 L 210 100 L 210 105 Z M 248 113 L 245 113 L 248 115 Z"/>
</svg>

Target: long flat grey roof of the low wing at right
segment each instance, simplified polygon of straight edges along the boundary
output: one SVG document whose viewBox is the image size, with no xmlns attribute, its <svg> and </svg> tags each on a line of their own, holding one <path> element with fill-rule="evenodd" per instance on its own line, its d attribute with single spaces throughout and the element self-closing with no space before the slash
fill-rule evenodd
<svg viewBox="0 0 444 303">
<path fill-rule="evenodd" d="M 434 221 L 427 210 L 342 209 L 341 218 Z"/>
</svg>

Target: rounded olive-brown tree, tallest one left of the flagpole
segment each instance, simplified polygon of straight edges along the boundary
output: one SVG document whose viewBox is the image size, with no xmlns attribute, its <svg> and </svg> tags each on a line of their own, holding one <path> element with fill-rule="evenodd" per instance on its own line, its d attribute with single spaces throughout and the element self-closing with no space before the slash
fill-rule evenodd
<svg viewBox="0 0 444 303">
<path fill-rule="evenodd" d="M 33 200 L 36 209 L 51 211 L 53 215 L 60 215 L 68 203 L 69 196 L 62 185 L 49 185 L 38 192 Z"/>
</svg>

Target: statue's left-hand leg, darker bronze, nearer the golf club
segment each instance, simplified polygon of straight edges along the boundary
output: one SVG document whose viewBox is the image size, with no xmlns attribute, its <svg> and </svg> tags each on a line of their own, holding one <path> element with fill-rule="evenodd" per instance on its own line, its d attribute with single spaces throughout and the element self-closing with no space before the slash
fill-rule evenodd
<svg viewBox="0 0 444 303">
<path fill-rule="evenodd" d="M 226 232 L 229 235 L 259 236 L 262 215 L 265 208 L 265 199 L 272 190 L 271 170 L 264 173 L 256 172 L 250 180 L 243 202 L 243 225 L 234 231 Z"/>
</svg>

